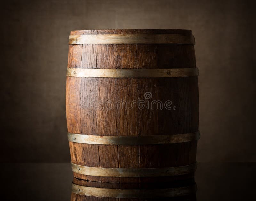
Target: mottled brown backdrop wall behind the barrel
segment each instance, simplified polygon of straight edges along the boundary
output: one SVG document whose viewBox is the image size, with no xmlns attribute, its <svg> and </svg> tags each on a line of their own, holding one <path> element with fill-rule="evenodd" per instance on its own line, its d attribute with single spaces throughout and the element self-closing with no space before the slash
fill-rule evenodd
<svg viewBox="0 0 256 201">
<path fill-rule="evenodd" d="M 79 29 L 191 29 L 200 69 L 199 162 L 256 162 L 255 4 L 8 1 L 1 5 L 1 162 L 69 162 L 65 72 Z M 254 38 L 253 38 L 254 37 Z"/>
</svg>

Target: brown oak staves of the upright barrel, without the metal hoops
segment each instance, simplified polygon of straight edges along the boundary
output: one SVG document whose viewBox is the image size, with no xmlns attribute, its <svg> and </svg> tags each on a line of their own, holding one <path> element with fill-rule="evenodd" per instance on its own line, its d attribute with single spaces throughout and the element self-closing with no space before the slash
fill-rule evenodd
<svg viewBox="0 0 256 201">
<path fill-rule="evenodd" d="M 192 36 L 190 30 L 84 30 L 83 34 L 181 34 Z M 82 59 L 81 59 L 82 58 Z M 73 61 L 74 60 L 74 61 Z M 79 64 L 80 62 L 80 64 Z M 77 63 L 77 64 L 76 64 Z M 81 65 L 82 63 L 82 65 Z M 84 44 L 70 45 L 69 67 L 102 69 L 196 69 L 193 45 L 186 44 Z M 79 91 L 79 92 L 77 92 Z M 107 101 L 171 100 L 172 110 L 124 110 L 98 106 L 79 109 L 86 100 Z M 87 78 L 67 77 L 68 132 L 89 135 L 164 135 L 198 131 L 197 77 L 173 78 Z M 85 104 L 85 103 L 84 103 Z M 86 104 L 85 104 L 86 105 Z M 83 106 L 83 105 L 82 105 Z M 76 125 L 77 124 L 77 125 Z M 76 125 L 76 126 L 75 126 Z M 80 128 L 79 128 L 80 126 Z M 74 131 L 74 132 L 73 132 Z M 197 141 L 161 145 L 70 145 L 72 162 L 84 159 L 86 166 L 106 168 L 160 168 L 183 166 L 196 162 Z M 76 145 L 75 145 L 76 146 Z M 78 146 L 78 147 L 79 147 Z M 86 157 L 84 157 L 84 155 Z M 80 158 L 79 158 L 80 157 Z M 89 165 L 90 164 L 90 165 Z M 159 178 L 113 178 L 88 176 L 104 182 L 157 182 L 192 178 L 194 174 Z M 83 179 L 83 176 L 76 175 Z"/>
</svg>

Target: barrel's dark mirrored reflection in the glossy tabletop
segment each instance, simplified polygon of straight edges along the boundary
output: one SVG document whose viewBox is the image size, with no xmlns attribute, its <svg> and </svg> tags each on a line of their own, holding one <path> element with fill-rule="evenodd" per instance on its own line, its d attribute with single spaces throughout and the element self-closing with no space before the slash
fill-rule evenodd
<svg viewBox="0 0 256 201">
<path fill-rule="evenodd" d="M 162 183 L 107 183 L 74 178 L 71 185 L 71 201 L 116 201 L 120 198 L 122 201 L 170 199 L 196 201 L 196 192 L 197 186 L 194 179 Z"/>
</svg>

